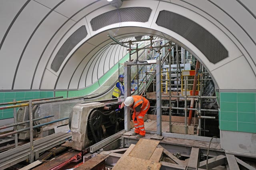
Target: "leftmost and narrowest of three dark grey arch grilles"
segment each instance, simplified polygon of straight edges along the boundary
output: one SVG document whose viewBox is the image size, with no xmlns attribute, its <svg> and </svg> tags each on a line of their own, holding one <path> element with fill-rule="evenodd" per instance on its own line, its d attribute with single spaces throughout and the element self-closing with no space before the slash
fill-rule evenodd
<svg viewBox="0 0 256 170">
<path fill-rule="evenodd" d="M 60 66 L 62 62 L 67 57 L 68 53 L 82 40 L 86 37 L 87 31 L 85 26 L 78 28 L 68 39 L 65 41 L 65 43 L 60 47 L 60 50 L 54 57 L 51 68 L 55 72 L 57 72 L 60 69 Z"/>
</svg>

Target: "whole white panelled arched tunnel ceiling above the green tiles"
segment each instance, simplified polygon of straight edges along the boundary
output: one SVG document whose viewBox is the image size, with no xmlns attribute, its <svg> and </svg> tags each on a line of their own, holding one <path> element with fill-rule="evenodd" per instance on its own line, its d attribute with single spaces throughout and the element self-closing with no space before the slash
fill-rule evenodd
<svg viewBox="0 0 256 170">
<path fill-rule="evenodd" d="M 107 51 L 125 51 L 118 45 L 106 50 L 106 45 L 112 42 L 108 33 L 117 39 L 150 34 L 170 39 L 188 49 L 208 68 L 220 90 L 255 90 L 255 5 L 255 1 L 248 0 L 124 0 L 118 11 L 120 16 L 124 15 L 122 10 L 129 13 L 129 8 L 132 11 L 135 7 L 151 12 L 147 20 L 136 20 L 135 17 L 140 15 L 126 14 L 126 21 L 120 22 L 124 16 L 116 16 L 116 8 L 106 0 L 0 1 L 0 90 L 81 89 L 89 86 L 111 67 L 110 61 L 117 62 L 116 55 Z M 167 26 L 157 24 L 161 11 L 200 25 L 223 45 L 228 57 L 216 62 L 212 57 L 212 61 L 209 60 L 204 50 L 213 48 L 210 51 L 217 51 L 218 55 L 220 46 L 211 46 L 208 37 L 198 37 L 198 42 L 208 43 L 203 48 L 198 47 L 192 41 L 196 37 L 188 38 L 192 34 L 191 23 L 186 21 L 180 22 L 180 27 L 187 27 L 187 33 L 171 28 L 178 25 L 177 22 L 172 25 L 171 21 L 165 21 L 169 23 Z M 110 25 L 92 27 L 91 21 L 109 12 L 118 22 L 114 20 Z M 83 25 L 87 34 L 64 53 L 66 57 L 59 63 L 60 69 L 54 71 L 51 68 L 54 57 Z M 201 35 L 200 29 L 192 31 L 194 35 Z M 102 51 L 102 55 L 97 60 L 98 51 Z M 108 67 L 103 59 L 109 61 L 105 62 Z M 94 75 L 96 70 L 97 75 Z"/>
</svg>

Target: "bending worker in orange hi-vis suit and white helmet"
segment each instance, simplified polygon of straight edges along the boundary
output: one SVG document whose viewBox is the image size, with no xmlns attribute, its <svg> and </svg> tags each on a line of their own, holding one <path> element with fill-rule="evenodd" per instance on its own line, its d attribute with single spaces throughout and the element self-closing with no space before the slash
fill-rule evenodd
<svg viewBox="0 0 256 170">
<path fill-rule="evenodd" d="M 122 102 L 121 107 L 116 109 L 116 111 L 120 111 L 124 106 L 130 106 L 134 110 L 132 120 L 134 122 L 135 130 L 132 136 L 137 135 L 136 138 L 145 137 L 146 131 L 143 118 L 150 107 L 149 101 L 142 96 L 129 96 Z"/>
</svg>

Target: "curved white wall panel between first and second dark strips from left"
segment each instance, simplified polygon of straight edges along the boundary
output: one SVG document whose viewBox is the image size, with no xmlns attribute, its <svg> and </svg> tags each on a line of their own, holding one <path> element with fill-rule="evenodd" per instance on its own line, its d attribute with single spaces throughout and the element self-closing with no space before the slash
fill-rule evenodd
<svg viewBox="0 0 256 170">
<path fill-rule="evenodd" d="M 24 46 L 38 23 L 49 11 L 49 8 L 30 1 L 14 22 L 0 51 L 0 56 L 4 56 L 4 62 L 0 62 L 0 68 L 3 70 L 0 72 L 1 81 L 4 82 L 3 89 L 12 87 L 11 79 L 14 78 Z M 6 72 L 8 72 L 8 76 L 4 75 Z"/>
</svg>

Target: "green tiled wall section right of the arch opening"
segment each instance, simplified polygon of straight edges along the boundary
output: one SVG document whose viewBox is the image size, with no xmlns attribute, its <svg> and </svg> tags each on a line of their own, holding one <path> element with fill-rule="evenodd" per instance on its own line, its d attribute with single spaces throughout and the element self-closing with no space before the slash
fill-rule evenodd
<svg viewBox="0 0 256 170">
<path fill-rule="evenodd" d="M 220 93 L 220 129 L 256 133 L 256 93 Z"/>
</svg>

